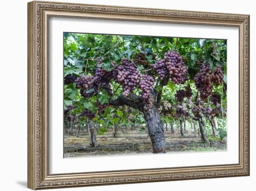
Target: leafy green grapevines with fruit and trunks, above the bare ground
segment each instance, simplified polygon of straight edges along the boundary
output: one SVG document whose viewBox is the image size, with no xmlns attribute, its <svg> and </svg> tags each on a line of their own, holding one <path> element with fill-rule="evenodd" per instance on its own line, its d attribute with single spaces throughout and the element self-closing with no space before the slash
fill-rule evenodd
<svg viewBox="0 0 256 191">
<path fill-rule="evenodd" d="M 66 133 L 88 130 L 97 147 L 97 134 L 136 131 L 153 153 L 168 151 L 168 129 L 225 141 L 226 60 L 226 40 L 64 33 Z"/>
</svg>

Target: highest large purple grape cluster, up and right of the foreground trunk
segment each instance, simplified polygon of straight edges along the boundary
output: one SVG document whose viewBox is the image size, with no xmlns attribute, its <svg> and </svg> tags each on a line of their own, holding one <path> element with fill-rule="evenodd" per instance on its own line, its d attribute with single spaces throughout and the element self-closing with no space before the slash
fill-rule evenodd
<svg viewBox="0 0 256 191">
<path fill-rule="evenodd" d="M 188 80 L 188 70 L 178 52 L 168 51 L 163 59 L 156 61 L 153 69 L 158 73 L 161 80 L 171 78 L 175 84 L 183 84 Z"/>
</svg>

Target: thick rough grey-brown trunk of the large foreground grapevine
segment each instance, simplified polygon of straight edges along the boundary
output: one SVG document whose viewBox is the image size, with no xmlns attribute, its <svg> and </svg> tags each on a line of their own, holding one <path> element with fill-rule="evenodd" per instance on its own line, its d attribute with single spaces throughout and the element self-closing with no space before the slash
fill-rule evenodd
<svg viewBox="0 0 256 191">
<path fill-rule="evenodd" d="M 148 112 L 143 111 L 143 114 L 148 125 L 148 134 L 152 142 L 153 153 L 165 153 L 163 124 L 156 106 L 153 105 Z"/>
</svg>

